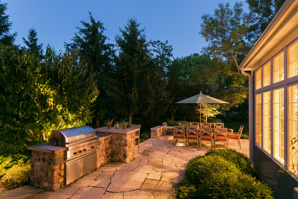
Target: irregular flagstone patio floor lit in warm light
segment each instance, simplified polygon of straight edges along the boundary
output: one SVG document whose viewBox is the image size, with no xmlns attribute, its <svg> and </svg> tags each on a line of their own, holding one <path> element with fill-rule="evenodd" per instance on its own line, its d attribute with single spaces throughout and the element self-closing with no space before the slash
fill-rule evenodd
<svg viewBox="0 0 298 199">
<path fill-rule="evenodd" d="M 194 142 L 183 147 L 181 140 L 176 146 L 173 146 L 172 137 L 165 143 L 163 140 L 163 136 L 150 138 L 140 144 L 140 153 L 136 148 L 132 162 L 110 162 L 55 192 L 25 186 L 0 194 L 0 198 L 172 198 L 172 186 L 183 178 L 188 161 L 204 155 L 210 149 L 210 143 L 205 142 L 205 146 L 197 149 Z M 225 145 L 216 144 L 216 147 L 225 148 Z M 229 141 L 229 148 L 249 156 L 248 140 L 241 139 L 241 147 L 239 149 L 237 141 Z M 26 189 L 31 191 L 30 194 L 20 195 Z"/>
</svg>

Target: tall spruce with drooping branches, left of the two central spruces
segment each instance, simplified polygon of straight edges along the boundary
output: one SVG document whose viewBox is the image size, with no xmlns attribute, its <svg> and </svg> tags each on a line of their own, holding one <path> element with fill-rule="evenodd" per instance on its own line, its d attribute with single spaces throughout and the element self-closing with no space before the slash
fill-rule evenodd
<svg viewBox="0 0 298 199">
<path fill-rule="evenodd" d="M 106 30 L 103 23 L 96 22 L 91 12 L 90 23 L 80 21 L 84 28 L 76 27 L 79 32 L 75 33 L 73 43 L 65 43 L 67 52 L 79 53 L 79 62 L 87 64 L 87 72 L 89 75 L 94 74 L 99 95 L 95 101 L 95 120 L 96 126 L 99 127 L 99 121 L 104 119 L 108 107 L 110 106 L 110 98 L 106 92 L 106 80 L 113 76 L 113 44 L 106 43 L 109 38 L 104 35 Z"/>
</svg>

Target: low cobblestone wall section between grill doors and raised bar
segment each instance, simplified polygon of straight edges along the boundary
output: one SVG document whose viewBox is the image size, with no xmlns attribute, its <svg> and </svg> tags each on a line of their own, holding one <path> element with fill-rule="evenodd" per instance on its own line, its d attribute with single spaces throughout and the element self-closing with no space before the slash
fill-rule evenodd
<svg viewBox="0 0 298 199">
<path fill-rule="evenodd" d="M 97 168 L 109 163 L 112 160 L 112 137 L 107 137 L 98 142 Z"/>
</svg>

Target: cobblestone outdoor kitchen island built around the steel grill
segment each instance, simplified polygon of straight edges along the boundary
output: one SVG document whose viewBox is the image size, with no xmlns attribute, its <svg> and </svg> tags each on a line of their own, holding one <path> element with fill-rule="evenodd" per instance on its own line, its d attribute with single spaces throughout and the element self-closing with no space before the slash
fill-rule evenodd
<svg viewBox="0 0 298 199">
<path fill-rule="evenodd" d="M 56 191 L 64 185 L 69 184 L 70 178 L 68 176 L 72 174 L 67 172 L 69 172 L 69 170 L 71 172 L 72 167 L 69 167 L 68 164 L 72 163 L 71 161 L 74 159 L 72 159 L 72 157 L 68 158 L 70 152 L 71 154 L 76 154 L 75 159 L 77 160 L 80 159 L 80 157 L 84 159 L 84 151 L 90 150 L 89 154 L 92 153 L 94 156 L 92 158 L 96 158 L 97 169 L 111 161 L 129 163 L 134 159 L 134 137 L 135 131 L 137 130 L 136 128 L 96 128 L 94 131 L 96 132 L 97 143 L 95 146 L 97 147 L 92 148 L 94 145 L 92 144 L 92 146 L 90 145 L 91 147 L 87 149 L 84 147 L 78 148 L 77 152 L 76 150 L 68 150 L 67 147 L 53 146 L 48 143 L 28 147 L 29 150 L 32 150 L 30 180 L 35 187 L 43 188 L 48 191 Z M 82 154 L 80 155 L 80 153 Z M 90 160 L 91 157 L 88 156 L 88 158 L 89 159 L 86 159 L 87 161 L 84 163 L 84 168 L 85 165 L 88 167 L 90 161 L 93 161 Z M 73 172 L 77 173 L 76 171 Z M 84 172 L 84 175 L 85 174 Z M 68 178 L 68 180 L 66 178 Z M 76 179 L 76 177 L 75 179 L 71 178 L 71 182 Z"/>
</svg>

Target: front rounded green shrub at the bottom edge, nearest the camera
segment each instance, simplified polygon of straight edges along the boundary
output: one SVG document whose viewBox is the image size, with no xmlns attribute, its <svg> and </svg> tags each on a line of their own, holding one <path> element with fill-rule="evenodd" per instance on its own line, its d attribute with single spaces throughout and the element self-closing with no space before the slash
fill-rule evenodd
<svg viewBox="0 0 298 199">
<path fill-rule="evenodd" d="M 175 185 L 175 198 L 273 198 L 267 185 L 244 174 L 222 155 L 227 156 L 213 150 L 191 159 L 185 178 Z"/>
</svg>

